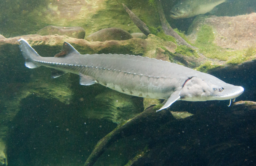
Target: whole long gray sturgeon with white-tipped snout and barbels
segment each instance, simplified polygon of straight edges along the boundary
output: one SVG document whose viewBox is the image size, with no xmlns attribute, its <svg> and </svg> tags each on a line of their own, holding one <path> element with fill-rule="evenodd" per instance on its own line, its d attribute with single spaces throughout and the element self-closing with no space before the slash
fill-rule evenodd
<svg viewBox="0 0 256 166">
<path fill-rule="evenodd" d="M 176 100 L 231 102 L 244 90 L 212 75 L 158 59 L 122 54 L 81 55 L 67 42 L 55 57 L 41 57 L 25 39 L 19 41 L 26 67 L 53 68 L 52 78 L 67 72 L 78 74 L 81 85 L 98 83 L 132 96 L 168 99 L 157 111 Z"/>
</svg>

